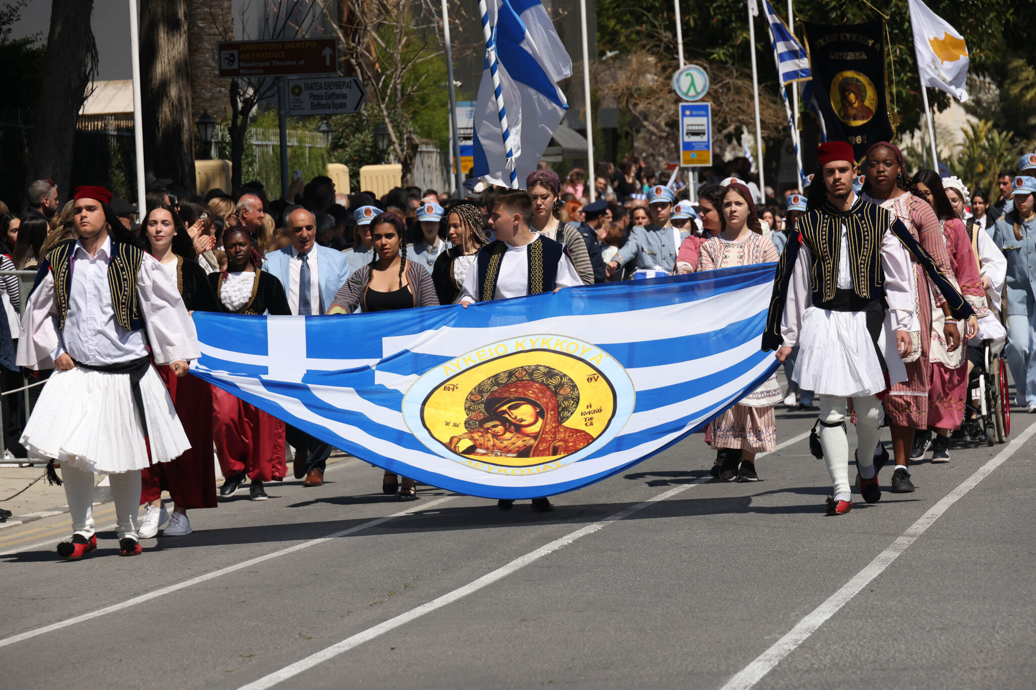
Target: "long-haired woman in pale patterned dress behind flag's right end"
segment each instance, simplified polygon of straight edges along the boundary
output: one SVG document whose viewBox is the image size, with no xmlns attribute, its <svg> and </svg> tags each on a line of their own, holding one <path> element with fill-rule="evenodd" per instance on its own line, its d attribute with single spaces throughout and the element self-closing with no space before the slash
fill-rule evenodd
<svg viewBox="0 0 1036 690">
<path fill-rule="evenodd" d="M 748 187 L 740 182 L 729 184 L 720 199 L 720 233 L 701 244 L 697 270 L 767 264 L 780 259 L 777 247 L 762 236 Z M 777 441 L 774 406 L 781 397 L 774 373 L 713 420 L 710 425 L 712 447 L 718 451 L 714 476 L 723 481 L 758 481 L 755 454 L 774 449 Z"/>
</svg>

